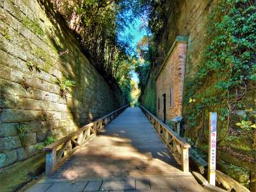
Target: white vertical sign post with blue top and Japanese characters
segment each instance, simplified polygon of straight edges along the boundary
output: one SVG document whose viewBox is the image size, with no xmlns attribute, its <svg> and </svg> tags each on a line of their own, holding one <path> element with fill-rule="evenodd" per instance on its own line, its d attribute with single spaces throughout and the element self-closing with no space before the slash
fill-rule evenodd
<svg viewBox="0 0 256 192">
<path fill-rule="evenodd" d="M 215 186 L 217 144 L 217 113 L 210 113 L 209 121 L 209 154 L 208 154 L 208 181 Z"/>
</svg>

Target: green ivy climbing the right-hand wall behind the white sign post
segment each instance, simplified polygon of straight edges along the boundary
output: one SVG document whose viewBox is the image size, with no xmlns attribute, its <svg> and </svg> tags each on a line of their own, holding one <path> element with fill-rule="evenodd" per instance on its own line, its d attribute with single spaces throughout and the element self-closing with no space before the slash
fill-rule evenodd
<svg viewBox="0 0 256 192">
<path fill-rule="evenodd" d="M 195 78 L 186 83 L 184 115 L 189 128 L 198 127 L 203 138 L 209 112 L 218 113 L 223 140 L 230 116 L 244 109 L 244 95 L 256 74 L 256 6 L 252 1 L 216 1 L 207 23 L 207 46 Z M 241 127 L 247 129 L 248 122 Z"/>
</svg>

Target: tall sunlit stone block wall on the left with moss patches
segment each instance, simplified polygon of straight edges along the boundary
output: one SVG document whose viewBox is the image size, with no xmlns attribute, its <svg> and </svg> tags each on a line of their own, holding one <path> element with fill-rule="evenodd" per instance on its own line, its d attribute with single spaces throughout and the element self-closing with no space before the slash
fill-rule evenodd
<svg viewBox="0 0 256 192">
<path fill-rule="evenodd" d="M 42 152 L 38 143 L 47 136 L 61 138 L 114 111 L 124 105 L 124 98 L 119 87 L 109 85 L 84 56 L 77 36 L 48 1 L 0 0 L 0 9 L 0 168 L 4 168 Z M 61 97 L 65 79 L 76 85 Z"/>
</svg>

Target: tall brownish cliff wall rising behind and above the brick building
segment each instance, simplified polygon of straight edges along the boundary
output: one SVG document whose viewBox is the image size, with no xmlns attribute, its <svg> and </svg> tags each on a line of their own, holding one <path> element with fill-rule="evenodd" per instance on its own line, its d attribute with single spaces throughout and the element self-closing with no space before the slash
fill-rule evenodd
<svg viewBox="0 0 256 192">
<path fill-rule="evenodd" d="M 168 6 L 173 6 L 173 1 Z M 209 13 L 209 7 L 211 6 L 211 1 L 190 1 L 190 0 L 180 0 L 175 1 L 175 6 L 173 6 L 173 12 L 169 12 L 168 22 L 164 26 L 164 32 L 159 42 L 159 60 L 163 60 L 168 57 L 168 51 L 172 47 L 173 42 L 177 36 L 186 36 L 188 38 L 187 45 L 187 58 L 185 64 L 185 81 L 189 81 L 193 78 L 196 71 L 196 62 L 200 59 L 200 52 L 204 49 L 204 35 L 206 30 L 207 15 Z M 150 106 L 156 106 L 156 95 L 152 93 L 156 92 L 156 75 L 159 72 L 163 62 L 158 65 L 153 66 L 148 78 L 148 83 L 145 88 L 141 100 L 143 106 L 147 106 L 152 113 L 155 111 L 151 109 Z M 153 84 L 153 85 L 152 85 Z M 152 98 L 148 100 L 147 98 Z M 157 108 L 156 108 L 157 109 Z"/>
</svg>

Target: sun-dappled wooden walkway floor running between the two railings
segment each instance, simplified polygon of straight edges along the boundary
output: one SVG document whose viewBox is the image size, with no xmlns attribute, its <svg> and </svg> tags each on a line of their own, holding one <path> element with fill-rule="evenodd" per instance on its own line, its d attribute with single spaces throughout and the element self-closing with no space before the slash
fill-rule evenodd
<svg viewBox="0 0 256 192">
<path fill-rule="evenodd" d="M 140 108 L 127 108 L 52 177 L 28 191 L 202 191 Z"/>
</svg>

